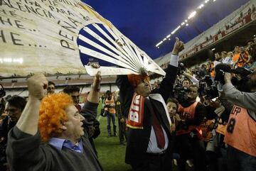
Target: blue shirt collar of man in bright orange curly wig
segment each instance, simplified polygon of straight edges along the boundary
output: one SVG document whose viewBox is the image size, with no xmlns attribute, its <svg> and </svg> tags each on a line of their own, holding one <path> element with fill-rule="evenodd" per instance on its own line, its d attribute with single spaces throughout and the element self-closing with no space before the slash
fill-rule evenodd
<svg viewBox="0 0 256 171">
<path fill-rule="evenodd" d="M 53 145 L 58 150 L 62 150 L 63 148 L 68 148 L 70 150 L 76 151 L 78 153 L 82 153 L 82 140 L 79 141 L 78 145 L 73 144 L 70 140 L 65 140 L 62 138 L 50 138 L 50 145 Z"/>
</svg>

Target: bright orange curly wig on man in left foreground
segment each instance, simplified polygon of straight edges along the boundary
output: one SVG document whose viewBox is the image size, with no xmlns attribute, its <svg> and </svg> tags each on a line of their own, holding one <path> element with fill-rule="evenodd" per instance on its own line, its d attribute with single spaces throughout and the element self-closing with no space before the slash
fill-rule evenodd
<svg viewBox="0 0 256 171">
<path fill-rule="evenodd" d="M 60 133 L 60 126 L 68 120 L 65 109 L 72 104 L 72 98 L 65 93 L 50 94 L 43 98 L 39 111 L 38 128 L 44 142 Z"/>
</svg>

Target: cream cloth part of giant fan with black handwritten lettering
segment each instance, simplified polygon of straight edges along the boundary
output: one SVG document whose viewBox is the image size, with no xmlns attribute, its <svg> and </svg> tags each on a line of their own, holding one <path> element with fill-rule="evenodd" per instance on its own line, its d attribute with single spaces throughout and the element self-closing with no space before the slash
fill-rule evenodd
<svg viewBox="0 0 256 171">
<path fill-rule="evenodd" d="M 78 33 L 112 24 L 79 0 L 0 0 L 0 76 L 85 73 Z"/>
</svg>

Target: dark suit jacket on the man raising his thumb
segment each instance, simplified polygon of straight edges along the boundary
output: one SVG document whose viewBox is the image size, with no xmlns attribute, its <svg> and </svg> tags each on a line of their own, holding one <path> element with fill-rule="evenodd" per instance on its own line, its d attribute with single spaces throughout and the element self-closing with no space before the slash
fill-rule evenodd
<svg viewBox="0 0 256 171">
<path fill-rule="evenodd" d="M 166 77 L 162 80 L 159 89 L 154 89 L 151 92 L 151 95 L 153 96 L 161 95 L 164 99 L 162 102 L 159 101 L 160 99 L 151 98 L 151 95 L 149 96 L 149 100 L 145 100 L 143 129 L 129 128 L 129 130 L 127 131 L 127 148 L 125 154 L 125 162 L 127 162 L 128 164 L 135 164 L 142 160 L 146 160 L 146 150 L 149 144 L 152 125 L 152 109 L 154 110 L 157 118 L 159 118 L 159 122 L 161 123 L 161 126 L 163 126 L 164 131 L 166 131 L 166 134 L 169 138 L 167 155 L 170 156 L 171 162 L 173 138 L 171 136 L 169 120 L 166 116 L 166 110 L 164 109 L 164 105 L 166 104 L 163 104 L 163 102 L 166 103 L 171 92 L 173 91 L 177 69 L 177 67 L 169 65 L 166 70 Z M 120 101 L 124 109 L 124 114 L 125 116 L 127 116 L 129 112 L 129 107 L 132 103 L 134 88 L 129 84 L 127 76 L 117 77 L 117 87 L 119 88 Z"/>
</svg>

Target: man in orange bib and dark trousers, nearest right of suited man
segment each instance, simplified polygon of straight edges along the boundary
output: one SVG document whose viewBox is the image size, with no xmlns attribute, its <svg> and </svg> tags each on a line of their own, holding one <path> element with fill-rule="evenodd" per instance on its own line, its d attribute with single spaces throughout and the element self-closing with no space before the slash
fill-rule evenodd
<svg viewBox="0 0 256 171">
<path fill-rule="evenodd" d="M 181 158 L 178 160 L 179 170 L 186 170 L 186 160 L 193 159 L 195 170 L 206 170 L 206 157 L 200 140 L 194 135 L 196 126 L 199 126 L 207 111 L 203 104 L 196 101 L 198 87 L 188 87 L 188 98 L 179 101 L 178 114 L 181 122 L 177 126 L 176 145 Z"/>
</svg>

